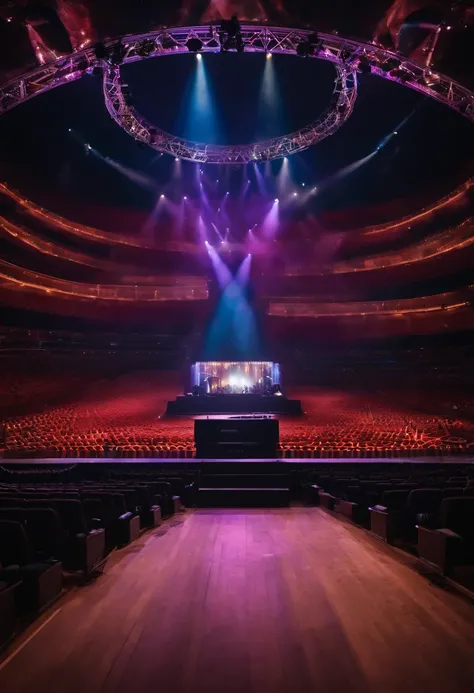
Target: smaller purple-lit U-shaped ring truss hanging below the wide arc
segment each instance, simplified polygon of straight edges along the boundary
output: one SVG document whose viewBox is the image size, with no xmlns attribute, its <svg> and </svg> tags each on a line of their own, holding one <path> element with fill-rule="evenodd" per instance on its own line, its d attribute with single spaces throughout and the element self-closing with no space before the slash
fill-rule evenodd
<svg viewBox="0 0 474 693">
<path fill-rule="evenodd" d="M 208 29 L 209 31 L 209 29 Z M 210 39 L 208 39 L 211 41 Z M 206 50 L 203 46 L 203 50 Z M 215 47 L 208 51 L 215 52 Z M 265 51 L 258 46 L 253 51 Z M 186 45 L 177 45 L 177 52 L 188 52 Z M 161 54 L 163 55 L 163 54 Z M 128 102 L 120 78 L 120 67 L 107 64 L 104 71 L 104 98 L 107 110 L 129 135 L 164 154 L 202 164 L 247 164 L 270 161 L 296 154 L 320 142 L 338 130 L 352 113 L 357 98 L 357 77 L 354 69 L 335 65 L 336 80 L 328 109 L 314 122 L 296 132 L 270 140 L 244 145 L 216 145 L 192 142 L 171 135 L 156 127 Z"/>
</svg>

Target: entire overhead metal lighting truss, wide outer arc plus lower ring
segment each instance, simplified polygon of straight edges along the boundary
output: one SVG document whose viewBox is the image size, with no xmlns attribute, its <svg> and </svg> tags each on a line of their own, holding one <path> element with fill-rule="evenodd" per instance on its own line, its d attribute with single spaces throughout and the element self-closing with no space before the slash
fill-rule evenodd
<svg viewBox="0 0 474 693">
<path fill-rule="evenodd" d="M 372 73 L 398 82 L 439 101 L 474 121 L 474 93 L 430 67 L 384 50 L 372 43 L 348 40 L 333 34 L 314 34 L 303 29 L 241 25 L 241 50 L 307 55 L 327 60 L 336 66 L 336 84 L 330 107 L 321 118 L 306 128 L 274 140 L 253 145 L 200 145 L 174 137 L 145 121 L 127 104 L 120 82 L 121 63 L 188 52 L 195 40 L 203 52 L 221 50 L 221 36 L 214 27 L 194 26 L 163 28 L 107 41 L 98 57 L 94 48 L 73 53 L 67 58 L 14 79 L 0 87 L 0 114 L 33 96 L 80 79 L 85 74 L 104 74 L 104 94 L 112 117 L 137 140 L 175 157 L 209 163 L 263 161 L 301 151 L 327 137 L 347 119 L 357 96 L 356 72 Z M 194 44 L 196 45 L 196 44 Z"/>
</svg>

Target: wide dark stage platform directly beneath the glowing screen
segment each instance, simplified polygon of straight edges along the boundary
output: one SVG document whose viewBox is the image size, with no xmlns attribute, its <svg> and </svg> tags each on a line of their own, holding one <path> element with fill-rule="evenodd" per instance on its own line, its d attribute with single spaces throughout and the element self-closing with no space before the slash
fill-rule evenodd
<svg viewBox="0 0 474 693">
<path fill-rule="evenodd" d="M 299 399 L 277 395 L 179 395 L 168 402 L 166 416 L 205 414 L 279 414 L 302 416 Z"/>
</svg>

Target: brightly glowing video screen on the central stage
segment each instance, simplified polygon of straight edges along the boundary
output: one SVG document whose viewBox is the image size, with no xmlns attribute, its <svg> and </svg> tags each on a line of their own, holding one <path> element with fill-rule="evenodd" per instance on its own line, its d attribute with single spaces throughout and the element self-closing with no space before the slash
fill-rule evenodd
<svg viewBox="0 0 474 693">
<path fill-rule="evenodd" d="M 280 365 L 273 361 L 197 361 L 193 388 L 205 394 L 271 394 L 279 391 Z"/>
</svg>

